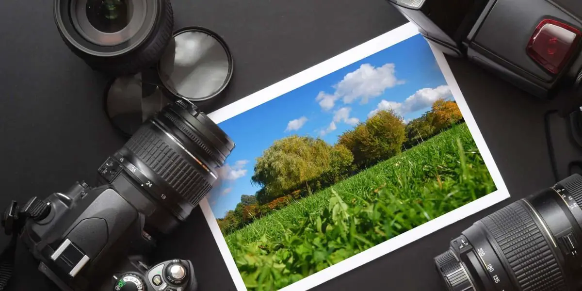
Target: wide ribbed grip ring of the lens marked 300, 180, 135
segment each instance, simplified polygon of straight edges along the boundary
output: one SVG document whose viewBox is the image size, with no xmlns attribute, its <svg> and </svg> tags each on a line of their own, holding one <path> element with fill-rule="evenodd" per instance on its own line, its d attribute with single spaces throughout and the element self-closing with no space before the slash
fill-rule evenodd
<svg viewBox="0 0 582 291">
<path fill-rule="evenodd" d="M 558 262 L 523 204 L 513 203 L 481 221 L 501 247 L 521 290 L 563 290 Z"/>
</svg>

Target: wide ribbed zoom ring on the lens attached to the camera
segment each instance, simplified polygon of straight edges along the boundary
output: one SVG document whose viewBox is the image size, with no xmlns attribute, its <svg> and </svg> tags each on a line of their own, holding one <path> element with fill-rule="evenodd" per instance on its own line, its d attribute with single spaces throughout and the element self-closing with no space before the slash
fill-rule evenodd
<svg viewBox="0 0 582 291">
<path fill-rule="evenodd" d="M 196 206 L 210 191 L 211 184 L 182 155 L 173 150 L 157 132 L 154 125 L 144 125 L 127 141 L 132 151 L 151 171 L 157 173 L 169 186 L 190 204 Z"/>
</svg>

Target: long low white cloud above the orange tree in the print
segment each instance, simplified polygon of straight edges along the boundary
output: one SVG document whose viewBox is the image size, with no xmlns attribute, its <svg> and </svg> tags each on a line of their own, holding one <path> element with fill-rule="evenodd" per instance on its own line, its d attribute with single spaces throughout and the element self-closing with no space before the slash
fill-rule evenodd
<svg viewBox="0 0 582 291">
<path fill-rule="evenodd" d="M 373 116 L 378 111 L 392 109 L 400 116 L 404 116 L 407 113 L 418 111 L 420 109 L 431 107 L 432 104 L 439 100 L 440 98 L 451 97 L 449 86 L 443 85 L 437 88 L 423 88 L 410 97 L 406 98 L 404 102 L 394 102 L 382 100 L 378 103 L 377 109 L 374 109 L 368 113 L 368 117 Z"/>
</svg>

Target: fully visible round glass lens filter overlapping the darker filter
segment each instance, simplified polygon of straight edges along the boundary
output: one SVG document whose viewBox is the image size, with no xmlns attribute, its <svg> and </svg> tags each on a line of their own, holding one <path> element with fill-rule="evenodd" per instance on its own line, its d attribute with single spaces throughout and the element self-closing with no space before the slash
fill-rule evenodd
<svg viewBox="0 0 582 291">
<path fill-rule="evenodd" d="M 221 93 L 232 71 L 233 58 L 226 42 L 203 27 L 176 31 L 158 64 L 166 91 L 194 102 Z"/>
</svg>

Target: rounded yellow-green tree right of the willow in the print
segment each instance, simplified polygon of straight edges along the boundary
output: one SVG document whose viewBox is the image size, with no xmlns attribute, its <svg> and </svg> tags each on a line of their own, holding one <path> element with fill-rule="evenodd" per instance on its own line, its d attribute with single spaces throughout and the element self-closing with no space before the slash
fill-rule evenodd
<svg viewBox="0 0 582 291">
<path fill-rule="evenodd" d="M 393 110 L 384 110 L 343 133 L 338 142 L 352 152 L 354 164 L 361 169 L 399 154 L 404 140 L 402 118 Z"/>
</svg>

